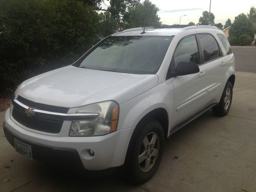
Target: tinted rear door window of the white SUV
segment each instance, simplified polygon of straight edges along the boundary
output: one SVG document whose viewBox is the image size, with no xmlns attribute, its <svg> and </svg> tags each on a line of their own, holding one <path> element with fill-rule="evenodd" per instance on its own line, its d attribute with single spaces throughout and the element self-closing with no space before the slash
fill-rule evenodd
<svg viewBox="0 0 256 192">
<path fill-rule="evenodd" d="M 219 46 L 211 35 L 198 35 L 204 53 L 204 61 L 209 61 L 220 56 Z"/>
</svg>

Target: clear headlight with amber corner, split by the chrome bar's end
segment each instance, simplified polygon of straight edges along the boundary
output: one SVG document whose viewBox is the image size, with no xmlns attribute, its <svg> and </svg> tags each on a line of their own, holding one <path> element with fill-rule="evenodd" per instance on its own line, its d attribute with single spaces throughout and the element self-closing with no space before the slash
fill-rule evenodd
<svg viewBox="0 0 256 192">
<path fill-rule="evenodd" d="M 116 131 L 119 108 L 115 101 L 82 106 L 77 113 L 97 113 L 91 120 L 72 121 L 70 136 L 98 136 Z"/>
</svg>

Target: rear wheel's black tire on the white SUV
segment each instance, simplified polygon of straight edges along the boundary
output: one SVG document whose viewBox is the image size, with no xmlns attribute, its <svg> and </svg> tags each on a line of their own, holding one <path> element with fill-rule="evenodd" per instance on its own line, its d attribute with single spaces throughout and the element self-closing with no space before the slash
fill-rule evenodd
<svg viewBox="0 0 256 192">
<path fill-rule="evenodd" d="M 229 103 L 227 106 L 227 92 L 228 90 L 230 91 L 230 96 L 229 96 Z M 214 107 L 211 108 L 212 112 L 219 117 L 223 117 L 228 114 L 231 102 L 232 102 L 232 97 L 233 97 L 233 86 L 230 81 L 227 81 L 226 86 L 224 88 L 224 91 L 221 96 L 221 100 L 219 104 L 215 105 Z"/>
</svg>

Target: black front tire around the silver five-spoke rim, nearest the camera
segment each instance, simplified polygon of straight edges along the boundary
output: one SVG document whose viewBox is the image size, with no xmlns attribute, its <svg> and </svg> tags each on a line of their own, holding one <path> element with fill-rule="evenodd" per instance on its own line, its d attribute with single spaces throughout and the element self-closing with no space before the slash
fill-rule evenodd
<svg viewBox="0 0 256 192">
<path fill-rule="evenodd" d="M 155 138 L 157 135 L 157 140 L 155 141 L 154 146 L 152 147 L 153 145 L 152 144 L 151 146 L 149 146 L 147 150 L 146 147 L 144 148 L 143 140 L 145 138 L 147 138 L 148 139 L 147 141 L 149 142 L 154 140 L 151 138 L 151 135 L 152 135 L 152 138 L 153 138 L 153 135 Z M 154 157 L 155 152 L 152 152 L 152 151 L 156 150 L 157 147 L 158 147 L 158 155 L 157 157 Z M 136 127 L 133 133 L 133 136 L 131 138 L 129 148 L 126 154 L 125 169 L 126 169 L 127 179 L 129 179 L 134 184 L 141 184 L 151 179 L 161 162 L 162 155 L 163 155 L 163 148 L 164 148 L 164 132 L 161 124 L 158 121 L 154 119 L 150 119 L 145 123 L 138 125 L 138 127 Z M 141 161 L 140 164 L 139 164 L 139 154 L 141 154 L 140 156 L 142 156 L 143 154 L 143 158 L 145 158 L 145 160 Z M 150 164 L 152 163 L 151 166 L 148 167 L 149 168 L 148 170 L 146 169 L 147 167 L 146 161 L 147 162 L 150 161 Z M 143 168 L 143 164 L 144 164 L 144 168 Z"/>
</svg>

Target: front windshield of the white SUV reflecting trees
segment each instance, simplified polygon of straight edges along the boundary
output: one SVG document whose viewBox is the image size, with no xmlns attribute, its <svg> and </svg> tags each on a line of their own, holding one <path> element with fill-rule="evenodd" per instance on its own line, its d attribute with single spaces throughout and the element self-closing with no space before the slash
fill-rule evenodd
<svg viewBox="0 0 256 192">
<path fill-rule="evenodd" d="M 111 36 L 79 67 L 133 74 L 156 74 L 173 36 Z"/>
</svg>

